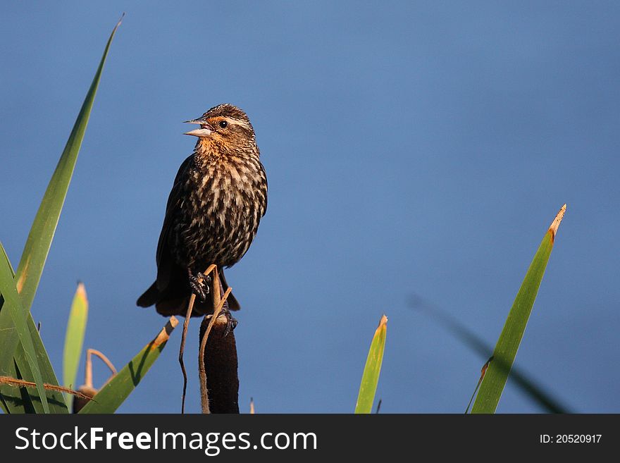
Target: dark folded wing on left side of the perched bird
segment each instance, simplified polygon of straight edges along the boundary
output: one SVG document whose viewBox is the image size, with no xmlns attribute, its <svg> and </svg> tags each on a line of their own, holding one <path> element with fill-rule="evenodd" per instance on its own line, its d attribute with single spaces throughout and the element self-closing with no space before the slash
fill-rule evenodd
<svg viewBox="0 0 620 463">
<path fill-rule="evenodd" d="M 170 252 L 170 233 L 174 223 L 174 216 L 178 214 L 179 202 L 182 197 L 183 185 L 187 179 L 188 171 L 194 161 L 194 156 L 190 155 L 181 164 L 174 185 L 168 196 L 166 204 L 166 216 L 163 218 L 163 226 L 157 243 L 157 288 L 164 290 L 171 279 L 171 271 L 175 267 L 175 262 Z"/>
</svg>

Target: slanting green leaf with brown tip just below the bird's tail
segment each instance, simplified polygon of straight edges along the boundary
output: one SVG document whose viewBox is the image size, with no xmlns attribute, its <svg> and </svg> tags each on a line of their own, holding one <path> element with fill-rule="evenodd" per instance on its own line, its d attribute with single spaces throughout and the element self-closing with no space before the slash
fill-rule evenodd
<svg viewBox="0 0 620 463">
<path fill-rule="evenodd" d="M 149 342 L 144 349 L 123 367 L 103 388 L 88 402 L 79 413 L 114 413 L 125 399 L 133 392 L 140 383 L 144 375 L 154 364 L 159 354 L 166 347 L 166 342 L 170 338 L 175 326 L 179 323 L 178 319 L 171 316 L 166 326 L 162 328 L 158 335 Z"/>
</svg>

